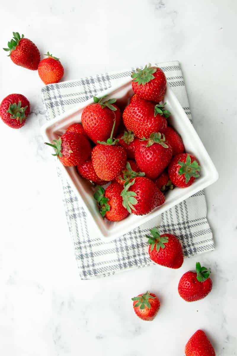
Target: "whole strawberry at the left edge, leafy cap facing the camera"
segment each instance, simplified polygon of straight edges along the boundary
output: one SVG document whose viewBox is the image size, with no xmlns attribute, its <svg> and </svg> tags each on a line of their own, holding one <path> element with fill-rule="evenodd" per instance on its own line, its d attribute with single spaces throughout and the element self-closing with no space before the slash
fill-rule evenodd
<svg viewBox="0 0 237 356">
<path fill-rule="evenodd" d="M 0 116 L 6 125 L 13 129 L 20 129 L 25 125 L 31 106 L 22 94 L 10 94 L 0 104 Z"/>
</svg>

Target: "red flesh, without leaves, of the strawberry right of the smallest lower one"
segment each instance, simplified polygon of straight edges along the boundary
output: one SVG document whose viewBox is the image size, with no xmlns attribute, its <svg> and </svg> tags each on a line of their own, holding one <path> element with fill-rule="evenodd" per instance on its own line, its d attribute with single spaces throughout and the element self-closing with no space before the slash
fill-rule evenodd
<svg viewBox="0 0 237 356">
<path fill-rule="evenodd" d="M 203 299 L 211 291 L 212 281 L 210 277 L 204 282 L 199 282 L 196 277 L 196 272 L 188 271 L 183 274 L 179 281 L 178 292 L 186 302 Z"/>
</svg>

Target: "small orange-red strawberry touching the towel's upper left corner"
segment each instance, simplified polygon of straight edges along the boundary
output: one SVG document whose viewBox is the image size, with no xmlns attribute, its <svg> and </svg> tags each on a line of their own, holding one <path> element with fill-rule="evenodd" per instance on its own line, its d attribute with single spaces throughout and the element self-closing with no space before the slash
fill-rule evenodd
<svg viewBox="0 0 237 356">
<path fill-rule="evenodd" d="M 64 69 L 59 61 L 59 58 L 53 57 L 52 54 L 44 54 L 48 56 L 39 62 L 38 74 L 44 84 L 58 83 L 63 77 Z"/>
</svg>

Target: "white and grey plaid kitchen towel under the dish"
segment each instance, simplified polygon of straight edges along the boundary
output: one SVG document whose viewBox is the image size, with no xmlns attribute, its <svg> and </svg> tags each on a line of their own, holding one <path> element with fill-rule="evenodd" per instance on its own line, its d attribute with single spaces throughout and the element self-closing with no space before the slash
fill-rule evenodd
<svg viewBox="0 0 237 356">
<path fill-rule="evenodd" d="M 157 63 L 156 66 L 161 67 L 165 72 L 169 85 L 191 120 L 179 62 Z M 119 82 L 130 74 L 131 70 L 127 70 L 47 85 L 42 89 L 47 120 L 90 99 L 93 95 L 99 96 L 101 91 L 113 85 L 119 85 Z M 114 241 L 104 242 L 93 234 L 83 207 L 61 174 L 60 163 L 57 172 L 81 279 L 106 277 L 131 268 L 152 265 L 145 234 L 159 224 L 161 233 L 167 232 L 179 238 L 186 257 L 214 249 L 212 232 L 206 219 L 203 190 L 169 209 L 160 218 L 152 219 Z"/>
</svg>

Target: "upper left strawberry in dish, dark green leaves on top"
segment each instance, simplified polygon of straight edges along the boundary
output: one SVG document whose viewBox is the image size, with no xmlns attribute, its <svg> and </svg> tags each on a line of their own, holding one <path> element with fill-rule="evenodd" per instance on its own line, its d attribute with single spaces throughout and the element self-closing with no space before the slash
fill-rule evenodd
<svg viewBox="0 0 237 356">
<path fill-rule="evenodd" d="M 117 133 L 121 112 L 115 103 L 116 99 L 109 99 L 104 101 L 104 98 L 93 97 L 94 104 L 86 106 L 82 111 L 81 123 L 90 139 L 97 143 L 97 141 L 106 141 L 111 133 L 114 118 L 114 136 Z"/>
</svg>

